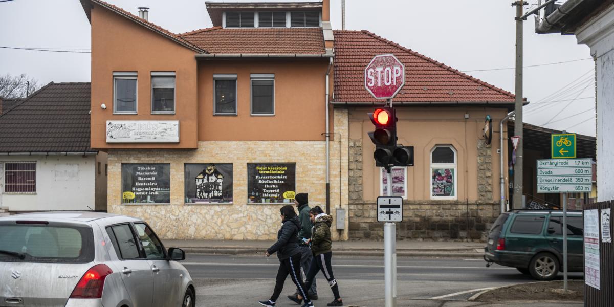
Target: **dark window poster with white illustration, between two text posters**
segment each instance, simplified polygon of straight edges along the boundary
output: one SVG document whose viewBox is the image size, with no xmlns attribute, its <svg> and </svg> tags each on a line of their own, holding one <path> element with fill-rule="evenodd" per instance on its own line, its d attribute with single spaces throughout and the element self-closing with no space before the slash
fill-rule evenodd
<svg viewBox="0 0 614 307">
<path fill-rule="evenodd" d="M 185 203 L 232 203 L 232 163 L 186 163 Z"/>
</svg>

